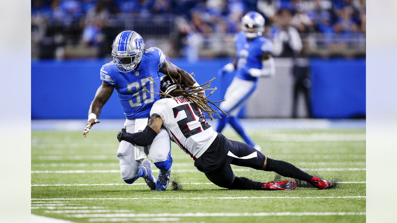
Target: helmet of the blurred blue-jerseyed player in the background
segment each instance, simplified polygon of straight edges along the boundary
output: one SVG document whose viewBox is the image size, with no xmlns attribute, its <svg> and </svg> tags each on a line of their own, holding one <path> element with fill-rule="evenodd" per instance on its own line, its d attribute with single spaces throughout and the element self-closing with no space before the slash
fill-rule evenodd
<svg viewBox="0 0 397 223">
<path fill-rule="evenodd" d="M 258 12 L 249 12 L 241 18 L 241 30 L 247 38 L 261 36 L 265 31 L 265 18 Z"/>
</svg>

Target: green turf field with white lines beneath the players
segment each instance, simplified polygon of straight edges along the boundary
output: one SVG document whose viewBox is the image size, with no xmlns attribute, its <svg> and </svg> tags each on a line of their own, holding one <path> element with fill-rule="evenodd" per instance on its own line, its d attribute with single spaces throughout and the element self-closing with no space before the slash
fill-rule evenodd
<svg viewBox="0 0 397 223">
<path fill-rule="evenodd" d="M 197 171 L 172 143 L 176 188 L 151 191 L 120 177 L 117 131 L 32 131 L 32 213 L 73 222 L 363 222 L 365 130 L 251 131 L 266 156 L 305 168 L 336 188 L 226 190 Z M 225 136 L 241 140 L 235 133 Z M 274 173 L 232 166 L 235 175 L 272 181 Z M 157 178 L 158 169 L 153 165 Z"/>
</svg>

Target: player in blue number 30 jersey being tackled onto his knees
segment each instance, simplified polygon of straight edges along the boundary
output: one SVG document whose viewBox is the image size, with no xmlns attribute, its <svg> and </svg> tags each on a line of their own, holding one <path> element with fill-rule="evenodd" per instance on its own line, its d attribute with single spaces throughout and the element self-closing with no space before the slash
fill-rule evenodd
<svg viewBox="0 0 397 223">
<path fill-rule="evenodd" d="M 134 31 L 123 31 L 114 39 L 112 45 L 113 61 L 106 63 L 100 69 L 102 84 L 96 91 L 89 108 L 87 125 L 83 135 L 87 136 L 97 119 L 102 107 L 109 100 L 116 88 L 126 121 L 125 129 L 129 133 L 136 133 L 145 129 L 150 118 L 149 112 L 155 101 L 160 99 L 159 72 L 170 74 L 181 79 L 189 86 L 200 88 L 195 79 L 183 69 L 166 60 L 163 52 L 152 47 L 144 50 L 143 38 Z M 156 83 L 154 83 L 154 82 Z M 146 88 L 146 89 L 145 89 Z M 152 93 L 150 93 L 152 92 Z M 205 96 L 204 92 L 200 96 Z M 154 178 L 151 163 L 160 169 L 158 180 Z M 125 183 L 131 184 L 139 177 L 145 179 L 152 190 L 165 190 L 171 174 L 171 141 L 165 129 L 148 146 L 137 146 L 121 141 L 117 156 L 120 161 L 120 173 Z"/>
</svg>

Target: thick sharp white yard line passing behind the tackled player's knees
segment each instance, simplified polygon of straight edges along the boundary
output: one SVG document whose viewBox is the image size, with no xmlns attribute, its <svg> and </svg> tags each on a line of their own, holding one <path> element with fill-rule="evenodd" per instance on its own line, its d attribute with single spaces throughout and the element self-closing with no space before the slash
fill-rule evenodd
<svg viewBox="0 0 397 223">
<path fill-rule="evenodd" d="M 253 169 L 233 169 L 235 172 L 245 172 L 251 171 Z M 303 168 L 303 171 L 365 171 L 366 168 L 317 168 L 317 169 L 307 169 Z M 194 173 L 197 169 L 173 169 L 174 173 Z M 152 170 L 153 173 L 158 173 L 159 170 Z M 31 173 L 120 173 L 118 169 L 108 169 L 108 170 L 34 170 Z"/>
</svg>

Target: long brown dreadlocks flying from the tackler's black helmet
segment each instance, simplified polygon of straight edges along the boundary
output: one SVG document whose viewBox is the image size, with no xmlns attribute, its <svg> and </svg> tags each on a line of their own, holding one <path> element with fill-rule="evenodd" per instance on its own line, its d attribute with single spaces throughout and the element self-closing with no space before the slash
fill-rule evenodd
<svg viewBox="0 0 397 223">
<path fill-rule="evenodd" d="M 215 106 L 216 108 L 218 108 L 218 110 L 220 110 L 222 113 L 224 113 L 226 116 L 227 113 L 225 113 L 224 111 L 222 111 L 222 109 L 220 109 L 216 103 L 220 103 L 223 102 L 224 100 L 221 101 L 217 101 L 217 102 L 212 102 L 210 100 L 208 100 L 208 97 L 211 96 L 212 93 L 214 93 L 214 90 L 216 90 L 216 88 L 210 88 L 210 84 L 212 81 L 215 80 L 215 77 L 212 78 L 211 80 L 207 81 L 206 83 L 204 83 L 203 85 L 200 85 L 200 87 L 193 87 L 193 86 L 189 86 L 189 84 L 187 84 L 185 81 L 182 81 L 181 79 L 181 74 L 173 71 L 171 73 L 176 73 L 177 77 L 173 78 L 170 75 L 170 72 L 168 71 L 168 67 L 167 67 L 167 76 L 170 77 L 173 81 L 175 81 L 175 83 L 177 85 L 179 85 L 179 89 L 175 89 L 172 92 L 170 92 L 169 94 L 166 94 L 164 92 L 162 92 L 162 90 L 160 89 L 160 87 L 158 87 L 157 83 L 153 81 L 152 78 L 150 78 L 151 81 L 153 81 L 153 83 L 156 84 L 157 88 L 160 89 L 160 93 L 157 92 L 150 92 L 145 88 L 145 90 L 149 93 L 153 93 L 153 94 L 160 94 L 161 96 L 163 96 L 164 98 L 175 98 L 175 97 L 179 97 L 182 96 L 184 98 L 187 98 L 189 101 L 193 102 L 197 108 L 199 108 L 200 110 L 206 112 L 208 114 L 208 116 L 210 117 L 211 120 L 214 120 L 214 117 L 212 117 L 212 115 L 215 113 L 216 115 L 218 115 L 218 117 L 221 117 L 218 114 L 218 111 L 215 111 L 211 108 L 211 106 L 209 104 L 212 104 L 213 106 Z M 192 76 L 194 76 L 193 73 L 191 73 Z M 206 90 L 211 90 L 211 93 L 208 94 L 208 96 L 206 96 L 205 98 L 202 98 L 200 96 L 197 96 L 197 93 L 202 92 L 202 91 L 206 91 Z"/>
</svg>

